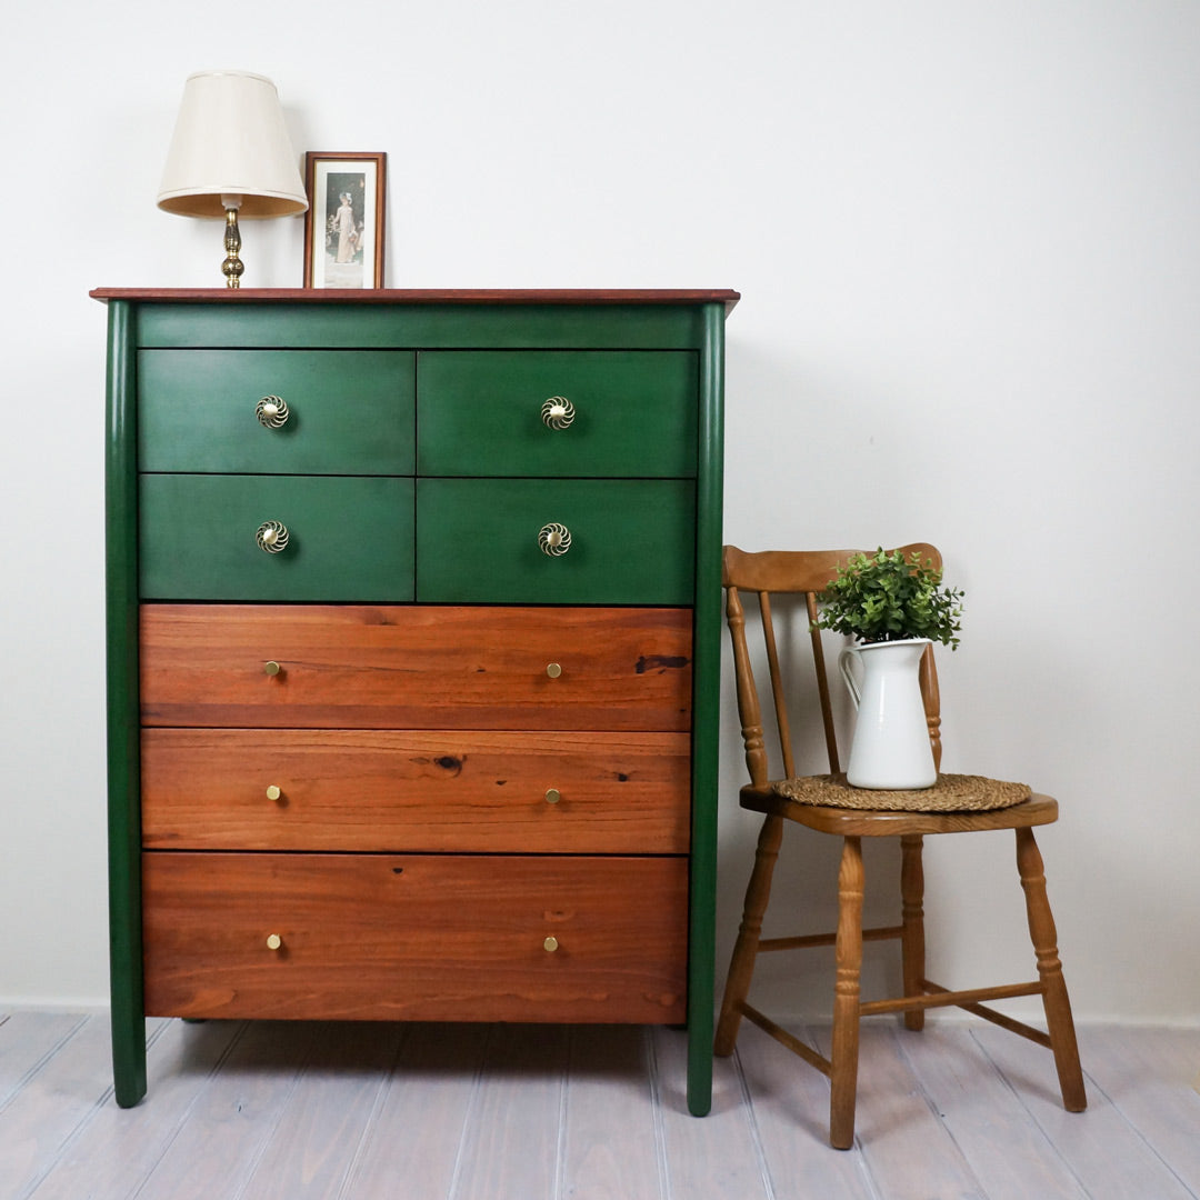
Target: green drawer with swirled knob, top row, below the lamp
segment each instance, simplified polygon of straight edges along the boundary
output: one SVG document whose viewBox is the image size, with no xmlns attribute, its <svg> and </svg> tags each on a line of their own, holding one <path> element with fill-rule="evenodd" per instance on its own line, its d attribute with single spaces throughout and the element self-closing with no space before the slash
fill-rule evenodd
<svg viewBox="0 0 1200 1200">
<path fill-rule="evenodd" d="M 142 350 L 138 463 L 155 472 L 412 475 L 415 355 Z M 278 396 L 278 428 L 256 407 Z"/>
</svg>

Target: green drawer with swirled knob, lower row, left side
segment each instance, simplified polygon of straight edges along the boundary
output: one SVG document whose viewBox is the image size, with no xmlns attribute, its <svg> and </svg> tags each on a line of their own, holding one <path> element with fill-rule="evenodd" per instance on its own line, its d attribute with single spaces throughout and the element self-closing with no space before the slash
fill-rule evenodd
<svg viewBox="0 0 1200 1200">
<path fill-rule="evenodd" d="M 143 475 L 139 590 L 155 600 L 413 599 L 413 480 Z M 288 529 L 259 548 L 266 521 Z"/>
</svg>

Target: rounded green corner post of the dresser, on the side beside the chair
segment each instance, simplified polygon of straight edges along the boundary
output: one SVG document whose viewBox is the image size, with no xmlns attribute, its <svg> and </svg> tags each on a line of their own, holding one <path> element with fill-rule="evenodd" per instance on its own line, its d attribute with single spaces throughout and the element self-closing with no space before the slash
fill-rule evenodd
<svg viewBox="0 0 1200 1200">
<path fill-rule="evenodd" d="M 713 1104 L 716 782 L 721 710 L 721 514 L 725 458 L 725 307 L 704 305 L 696 481 L 696 613 L 692 674 L 691 913 L 688 958 L 688 1110 Z"/>
</svg>

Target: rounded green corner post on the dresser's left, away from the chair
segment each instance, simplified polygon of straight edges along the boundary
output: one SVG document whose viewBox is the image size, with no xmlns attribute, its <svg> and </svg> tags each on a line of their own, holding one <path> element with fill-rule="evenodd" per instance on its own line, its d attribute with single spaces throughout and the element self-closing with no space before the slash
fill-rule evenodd
<svg viewBox="0 0 1200 1200">
<path fill-rule="evenodd" d="M 108 652 L 108 944 L 116 1103 L 146 1092 L 138 760 L 137 437 L 133 312 L 108 305 L 104 511 Z"/>
</svg>

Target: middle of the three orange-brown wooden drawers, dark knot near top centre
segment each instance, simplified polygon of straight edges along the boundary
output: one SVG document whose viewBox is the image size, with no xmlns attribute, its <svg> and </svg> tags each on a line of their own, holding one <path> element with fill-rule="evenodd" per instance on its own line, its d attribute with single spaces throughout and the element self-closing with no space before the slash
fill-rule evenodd
<svg viewBox="0 0 1200 1200">
<path fill-rule="evenodd" d="M 142 839 L 160 850 L 682 854 L 690 754 L 686 733 L 144 730 Z"/>
</svg>

